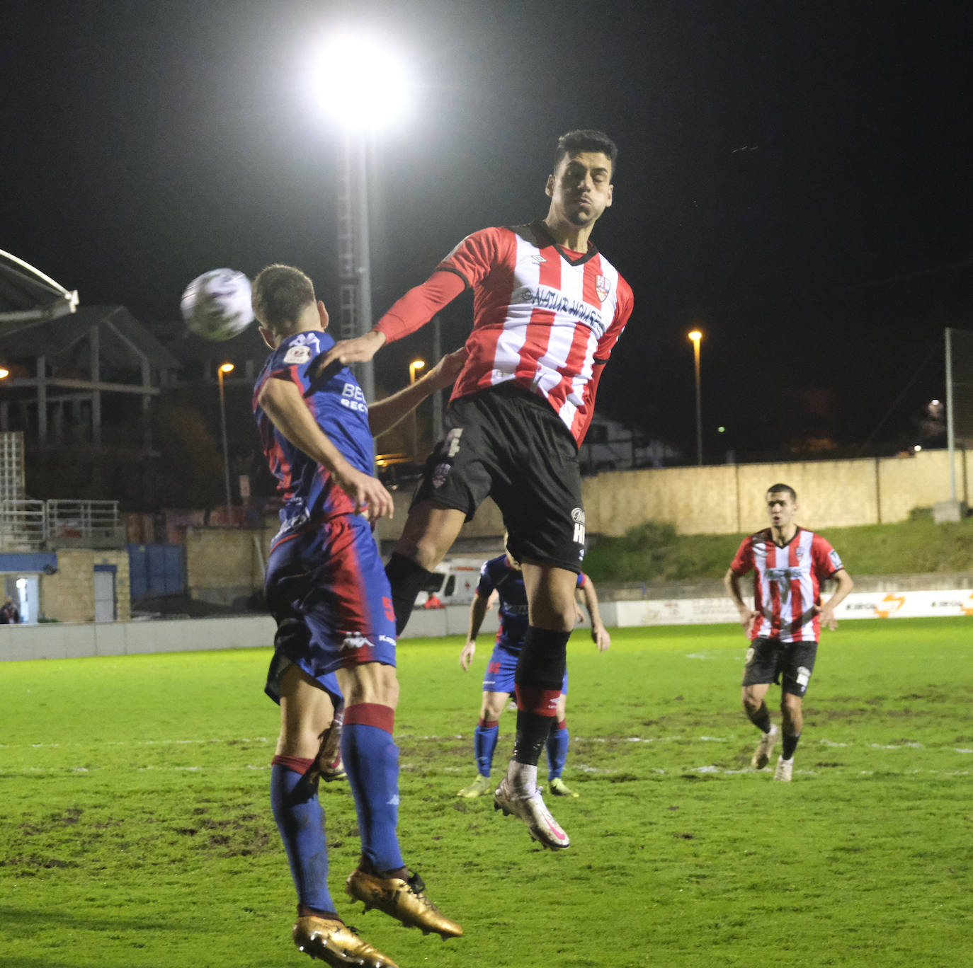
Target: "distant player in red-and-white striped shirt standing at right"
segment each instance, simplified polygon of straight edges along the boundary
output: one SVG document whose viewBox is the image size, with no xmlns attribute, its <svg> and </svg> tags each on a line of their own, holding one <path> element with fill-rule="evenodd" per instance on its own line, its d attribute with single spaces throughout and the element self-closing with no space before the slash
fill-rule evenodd
<svg viewBox="0 0 973 968">
<path fill-rule="evenodd" d="M 783 747 L 774 778 L 790 782 L 794 750 L 804 725 L 802 703 L 811 682 L 820 626 L 838 628 L 835 608 L 854 587 L 838 552 L 820 535 L 794 523 L 797 494 L 787 484 L 767 492 L 771 527 L 743 539 L 724 583 L 739 611 L 740 624 L 752 644 L 743 669 L 743 709 L 764 734 L 751 765 L 767 766 L 778 729 L 764 697 L 772 682 L 780 684 Z M 754 607 L 743 601 L 739 579 L 754 571 Z M 821 604 L 820 583 L 834 578 L 838 588 Z M 782 678 L 781 678 L 782 676 Z"/>
</svg>

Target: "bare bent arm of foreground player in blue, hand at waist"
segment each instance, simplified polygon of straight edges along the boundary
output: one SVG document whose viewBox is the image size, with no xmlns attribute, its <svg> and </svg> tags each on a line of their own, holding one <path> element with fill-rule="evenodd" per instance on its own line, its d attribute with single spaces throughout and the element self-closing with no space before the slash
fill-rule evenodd
<svg viewBox="0 0 973 968">
<path fill-rule="evenodd" d="M 392 496 L 375 477 L 351 467 L 342 457 L 310 415 L 296 384 L 271 378 L 261 388 L 258 402 L 279 432 L 331 473 L 342 491 L 355 502 L 356 514 L 363 512 L 370 521 L 392 516 L 395 507 Z"/>
</svg>

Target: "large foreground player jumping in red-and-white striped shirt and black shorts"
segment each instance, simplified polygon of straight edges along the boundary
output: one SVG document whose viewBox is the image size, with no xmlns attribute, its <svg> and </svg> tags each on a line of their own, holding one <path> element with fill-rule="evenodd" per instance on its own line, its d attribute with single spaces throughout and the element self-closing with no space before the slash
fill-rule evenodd
<svg viewBox="0 0 973 968">
<path fill-rule="evenodd" d="M 496 501 L 523 564 L 529 628 L 516 674 L 517 738 L 494 804 L 552 848 L 569 840 L 537 788 L 537 761 L 556 715 L 585 551 L 578 445 L 632 305 L 628 283 L 590 241 L 612 203 L 617 154 L 600 131 L 561 137 L 543 220 L 474 232 L 370 333 L 342 341 L 323 361 L 371 360 L 386 341 L 423 326 L 464 289 L 474 291 L 450 430 L 429 458 L 385 570 L 401 631 L 464 521 L 487 495 Z"/>
</svg>

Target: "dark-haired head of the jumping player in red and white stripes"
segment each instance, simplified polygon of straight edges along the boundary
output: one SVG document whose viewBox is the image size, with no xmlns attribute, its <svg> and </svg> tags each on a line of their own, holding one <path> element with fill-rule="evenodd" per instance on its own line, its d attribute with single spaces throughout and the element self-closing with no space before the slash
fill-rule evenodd
<svg viewBox="0 0 973 968">
<path fill-rule="evenodd" d="M 548 175 L 549 218 L 580 228 L 594 225 L 611 205 L 618 148 L 601 131 L 568 131 L 560 136 L 554 171 Z"/>
</svg>

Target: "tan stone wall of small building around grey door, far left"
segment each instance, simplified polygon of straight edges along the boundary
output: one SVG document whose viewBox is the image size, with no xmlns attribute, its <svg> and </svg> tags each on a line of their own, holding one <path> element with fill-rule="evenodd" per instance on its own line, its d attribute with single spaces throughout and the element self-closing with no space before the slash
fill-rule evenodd
<svg viewBox="0 0 973 968">
<path fill-rule="evenodd" d="M 41 612 L 58 622 L 94 621 L 94 566 L 115 567 L 115 597 L 120 622 L 131 618 L 128 552 L 90 548 L 59 548 L 57 570 L 41 574 Z"/>
</svg>

